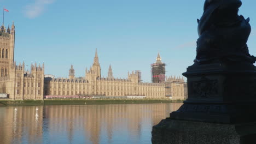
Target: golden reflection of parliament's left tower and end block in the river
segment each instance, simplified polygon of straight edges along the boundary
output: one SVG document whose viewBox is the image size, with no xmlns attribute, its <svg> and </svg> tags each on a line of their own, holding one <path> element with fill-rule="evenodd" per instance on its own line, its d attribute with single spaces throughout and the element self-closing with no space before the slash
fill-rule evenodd
<svg viewBox="0 0 256 144">
<path fill-rule="evenodd" d="M 42 143 L 43 106 L 0 107 L 0 122 L 0 143 Z"/>
</svg>

